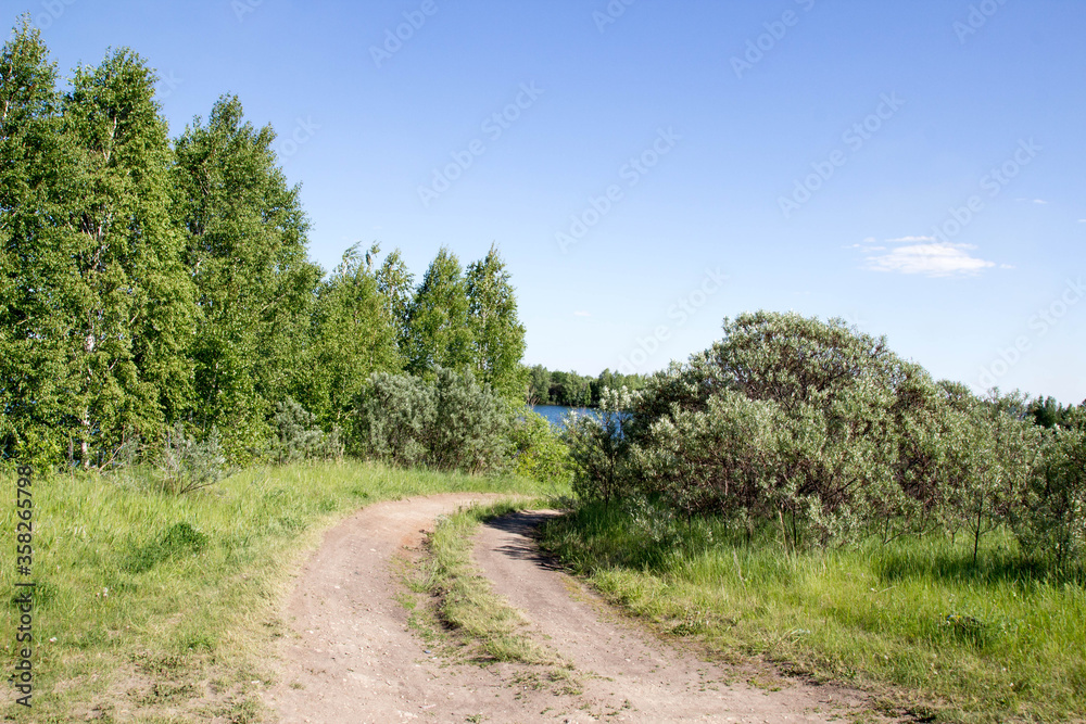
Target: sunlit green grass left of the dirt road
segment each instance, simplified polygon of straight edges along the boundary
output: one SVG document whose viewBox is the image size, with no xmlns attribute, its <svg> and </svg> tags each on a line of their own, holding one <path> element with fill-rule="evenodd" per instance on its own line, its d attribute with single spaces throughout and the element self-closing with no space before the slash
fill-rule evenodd
<svg viewBox="0 0 1086 724">
<path fill-rule="evenodd" d="M 14 478 L 0 477 L 0 650 L 16 653 Z M 552 493 L 481 478 L 343 462 L 252 468 L 181 496 L 147 477 L 59 475 L 34 483 L 35 695 L 7 719 L 66 722 L 260 721 L 280 601 L 302 556 L 351 511 L 452 491 Z M 255 682 L 255 683 L 254 683 Z"/>
</svg>

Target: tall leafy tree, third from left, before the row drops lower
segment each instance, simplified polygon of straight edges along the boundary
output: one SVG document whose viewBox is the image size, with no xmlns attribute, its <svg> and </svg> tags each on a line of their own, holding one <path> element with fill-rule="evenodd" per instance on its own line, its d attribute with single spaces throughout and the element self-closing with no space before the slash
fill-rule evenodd
<svg viewBox="0 0 1086 724">
<path fill-rule="evenodd" d="M 237 457 L 260 448 L 276 401 L 303 384 L 299 365 L 320 270 L 288 187 L 275 131 L 244 120 L 236 97 L 178 139 L 177 216 L 200 308 L 193 346 L 198 418 L 224 429 Z"/>
</svg>

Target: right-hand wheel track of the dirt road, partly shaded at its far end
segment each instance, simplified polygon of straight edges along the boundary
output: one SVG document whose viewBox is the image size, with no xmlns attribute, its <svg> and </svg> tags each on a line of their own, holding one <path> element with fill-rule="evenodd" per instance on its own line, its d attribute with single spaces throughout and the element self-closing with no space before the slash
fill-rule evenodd
<svg viewBox="0 0 1086 724">
<path fill-rule="evenodd" d="M 621 620 L 539 557 L 529 534 L 548 515 L 521 512 L 484 524 L 475 557 L 495 593 L 527 613 L 547 644 L 586 674 L 590 711 L 614 712 L 609 721 L 796 723 L 841 721 L 843 709 L 862 706 L 850 693 L 796 682 L 778 691 L 729 685 L 740 675 L 734 669 L 698 661 Z"/>
</svg>

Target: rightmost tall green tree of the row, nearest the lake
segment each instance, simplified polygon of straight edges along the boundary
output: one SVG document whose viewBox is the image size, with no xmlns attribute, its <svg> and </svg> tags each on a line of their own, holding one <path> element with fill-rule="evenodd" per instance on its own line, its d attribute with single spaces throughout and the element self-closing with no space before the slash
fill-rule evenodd
<svg viewBox="0 0 1086 724">
<path fill-rule="evenodd" d="M 476 373 L 503 397 L 522 402 L 528 389 L 528 370 L 520 364 L 525 326 L 517 317 L 505 261 L 495 246 L 468 266 L 466 281 Z"/>
</svg>

